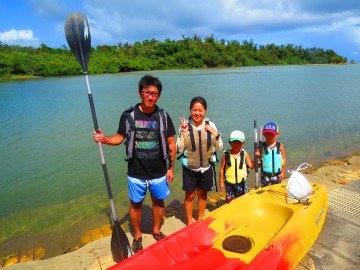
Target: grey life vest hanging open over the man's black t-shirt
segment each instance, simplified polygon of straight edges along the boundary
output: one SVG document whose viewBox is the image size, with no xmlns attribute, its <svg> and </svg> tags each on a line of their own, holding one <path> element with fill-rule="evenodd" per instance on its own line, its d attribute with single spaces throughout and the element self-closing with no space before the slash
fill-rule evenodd
<svg viewBox="0 0 360 270">
<path fill-rule="evenodd" d="M 136 106 L 138 106 L 137 104 Z M 166 131 L 167 131 L 167 117 L 163 109 L 156 106 L 155 108 L 156 113 L 159 116 L 159 127 L 160 127 L 160 141 L 161 141 L 161 149 L 163 152 L 164 159 L 168 159 L 171 164 L 171 156 L 170 156 L 170 147 L 167 141 L 166 137 Z M 125 127 L 126 127 L 126 160 L 128 161 L 133 157 L 134 154 L 134 147 L 135 147 L 135 111 L 134 107 L 130 107 L 128 110 L 125 111 L 126 114 L 126 121 L 125 121 Z"/>
</svg>

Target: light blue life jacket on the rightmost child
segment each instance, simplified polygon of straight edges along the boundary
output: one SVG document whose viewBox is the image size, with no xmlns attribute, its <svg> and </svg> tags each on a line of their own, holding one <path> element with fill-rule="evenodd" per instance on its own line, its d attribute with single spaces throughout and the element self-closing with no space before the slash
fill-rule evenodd
<svg viewBox="0 0 360 270">
<path fill-rule="evenodd" d="M 262 142 L 262 170 L 271 175 L 281 173 L 283 160 L 280 152 L 280 142 L 276 142 L 274 148 L 267 146 L 266 142 Z"/>
</svg>

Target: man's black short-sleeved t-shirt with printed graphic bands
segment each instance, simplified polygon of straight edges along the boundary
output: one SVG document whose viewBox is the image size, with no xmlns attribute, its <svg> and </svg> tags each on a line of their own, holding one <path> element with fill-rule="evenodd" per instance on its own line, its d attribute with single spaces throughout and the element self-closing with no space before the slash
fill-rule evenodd
<svg viewBox="0 0 360 270">
<path fill-rule="evenodd" d="M 175 136 L 176 131 L 170 116 L 167 117 L 166 138 Z M 158 107 L 149 114 L 134 107 L 135 147 L 133 157 L 128 162 L 128 175 L 149 180 L 162 177 L 167 172 L 167 163 L 161 149 L 160 115 Z M 120 117 L 118 134 L 126 138 L 126 113 Z"/>
</svg>

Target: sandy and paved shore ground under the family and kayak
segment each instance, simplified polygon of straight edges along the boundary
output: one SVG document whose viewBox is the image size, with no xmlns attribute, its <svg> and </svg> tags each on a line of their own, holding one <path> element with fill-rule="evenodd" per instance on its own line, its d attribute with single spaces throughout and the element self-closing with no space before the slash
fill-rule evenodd
<svg viewBox="0 0 360 270">
<path fill-rule="evenodd" d="M 309 182 L 326 185 L 329 207 L 323 229 L 307 255 L 295 270 L 360 269 L 360 154 L 345 163 L 328 164 L 306 173 Z M 219 193 L 209 197 L 209 205 L 219 205 Z M 182 204 L 173 204 L 162 231 L 171 234 L 185 226 Z M 150 213 L 144 213 L 149 224 Z M 146 220 L 148 219 L 148 220 Z M 306 224 L 304 224 L 306 226 Z M 132 241 L 132 235 L 127 233 Z M 143 245 L 155 243 L 151 234 L 143 234 Z M 5 266 L 4 269 L 87 269 L 103 270 L 114 265 L 110 236 L 93 241 L 80 249 L 47 260 L 36 260 Z"/>
</svg>

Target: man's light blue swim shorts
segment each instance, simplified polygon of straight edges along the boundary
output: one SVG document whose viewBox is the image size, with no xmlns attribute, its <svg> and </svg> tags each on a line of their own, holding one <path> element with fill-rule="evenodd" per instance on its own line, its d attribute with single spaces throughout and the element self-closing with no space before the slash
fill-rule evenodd
<svg viewBox="0 0 360 270">
<path fill-rule="evenodd" d="M 166 175 L 160 178 L 143 180 L 128 176 L 128 188 L 130 200 L 134 203 L 141 202 L 149 188 L 152 197 L 163 200 L 169 197 L 170 189 L 166 181 Z"/>
</svg>

